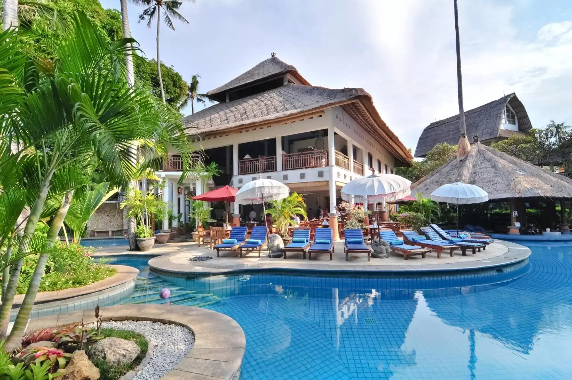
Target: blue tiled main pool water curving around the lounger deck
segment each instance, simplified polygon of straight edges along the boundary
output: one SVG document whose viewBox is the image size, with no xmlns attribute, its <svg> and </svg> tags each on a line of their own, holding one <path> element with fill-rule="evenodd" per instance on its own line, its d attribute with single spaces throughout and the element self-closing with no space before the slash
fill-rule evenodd
<svg viewBox="0 0 572 380">
<path fill-rule="evenodd" d="M 247 337 L 242 379 L 571 379 L 572 245 L 526 264 L 427 278 L 141 278 L 129 302 L 209 308 Z M 248 279 L 248 280 L 245 280 Z"/>
</svg>

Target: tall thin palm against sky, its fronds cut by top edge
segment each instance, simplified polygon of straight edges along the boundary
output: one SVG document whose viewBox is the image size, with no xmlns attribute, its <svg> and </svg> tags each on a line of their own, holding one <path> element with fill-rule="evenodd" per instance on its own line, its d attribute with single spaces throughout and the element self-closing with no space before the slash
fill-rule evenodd
<svg viewBox="0 0 572 380">
<path fill-rule="evenodd" d="M 171 29 L 175 30 L 171 18 L 178 19 L 184 23 L 189 23 L 186 18 L 178 13 L 178 9 L 182 5 L 182 0 L 132 0 L 137 5 L 145 6 L 146 8 L 139 15 L 139 21 L 147 20 L 147 26 L 151 27 L 151 22 L 154 17 L 157 17 L 157 70 L 159 74 L 159 83 L 161 85 L 161 98 L 165 104 L 165 90 L 163 89 L 163 79 L 161 77 L 161 59 L 159 56 L 159 31 L 161 26 L 161 10 L 165 12 L 163 19 L 165 24 Z M 194 3 L 194 0 L 186 0 Z"/>
</svg>

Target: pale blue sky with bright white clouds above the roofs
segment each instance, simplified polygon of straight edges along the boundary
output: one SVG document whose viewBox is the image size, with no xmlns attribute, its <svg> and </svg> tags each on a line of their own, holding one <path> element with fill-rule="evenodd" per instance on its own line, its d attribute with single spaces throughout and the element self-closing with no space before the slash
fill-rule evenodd
<svg viewBox="0 0 572 380">
<path fill-rule="evenodd" d="M 161 25 L 161 61 L 201 92 L 276 52 L 312 85 L 365 89 L 407 148 L 458 114 L 452 0 L 182 1 L 189 23 Z M 131 33 L 156 58 L 141 10 L 129 3 Z M 464 109 L 514 92 L 534 128 L 572 125 L 572 1 L 459 0 L 459 28 Z"/>
</svg>

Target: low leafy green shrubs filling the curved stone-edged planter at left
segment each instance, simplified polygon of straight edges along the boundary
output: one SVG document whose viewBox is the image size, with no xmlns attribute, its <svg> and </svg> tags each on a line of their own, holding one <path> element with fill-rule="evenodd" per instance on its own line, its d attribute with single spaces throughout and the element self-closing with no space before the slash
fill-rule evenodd
<svg viewBox="0 0 572 380">
<path fill-rule="evenodd" d="M 80 246 L 80 244 L 56 243 L 57 250 L 50 256 L 46 264 L 44 275 L 40 282 L 39 291 L 64 290 L 76 288 L 101 281 L 113 276 L 117 270 L 96 263 L 91 256 L 93 248 Z M 24 294 L 34 272 L 37 256 L 29 256 L 23 264 L 18 280 L 17 294 Z"/>
</svg>

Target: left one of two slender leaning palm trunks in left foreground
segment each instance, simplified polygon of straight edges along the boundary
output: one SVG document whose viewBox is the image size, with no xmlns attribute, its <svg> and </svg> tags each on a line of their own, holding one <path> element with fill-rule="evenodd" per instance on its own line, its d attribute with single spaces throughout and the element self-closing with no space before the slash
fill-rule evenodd
<svg viewBox="0 0 572 380">
<path fill-rule="evenodd" d="M 34 234 L 35 228 L 38 225 L 38 220 L 42 213 L 43 205 L 47 197 L 47 192 L 50 189 L 51 177 L 54 175 L 54 172 L 55 168 L 50 167 L 47 170 L 46 175 L 43 177 L 43 181 L 38 195 L 34 201 L 34 205 L 30 209 L 30 215 L 26 221 L 26 227 L 24 227 L 22 239 L 20 240 L 17 251 L 17 254 L 20 256 L 20 258 L 16 260 L 12 265 L 12 270 L 10 271 L 10 279 L 8 280 L 8 284 L 6 286 L 6 294 L 3 295 L 2 306 L 0 307 L 0 338 L 6 337 L 8 323 L 10 322 L 10 312 L 14 303 L 14 296 L 16 295 L 16 287 L 18 285 L 20 271 L 22 270 L 25 255 L 30 250 L 29 245 L 31 242 L 31 236 Z"/>
</svg>

